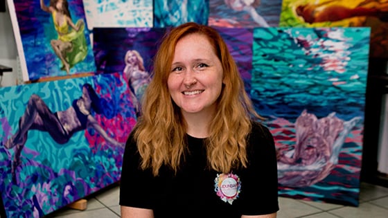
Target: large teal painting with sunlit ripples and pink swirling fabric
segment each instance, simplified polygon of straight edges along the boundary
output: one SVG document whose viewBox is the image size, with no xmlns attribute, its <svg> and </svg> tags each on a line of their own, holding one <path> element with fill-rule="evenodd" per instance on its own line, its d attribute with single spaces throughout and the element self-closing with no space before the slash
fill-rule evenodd
<svg viewBox="0 0 388 218">
<path fill-rule="evenodd" d="M 254 28 L 251 98 L 279 195 L 358 206 L 370 29 Z"/>
</svg>

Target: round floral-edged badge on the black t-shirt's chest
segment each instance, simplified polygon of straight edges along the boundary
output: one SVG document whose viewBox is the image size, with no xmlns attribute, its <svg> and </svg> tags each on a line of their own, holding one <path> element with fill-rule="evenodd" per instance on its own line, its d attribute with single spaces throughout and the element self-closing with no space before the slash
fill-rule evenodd
<svg viewBox="0 0 388 218">
<path fill-rule="evenodd" d="M 236 174 L 217 174 L 214 180 L 214 190 L 218 197 L 230 204 L 237 199 L 241 189 L 240 178 Z"/>
</svg>

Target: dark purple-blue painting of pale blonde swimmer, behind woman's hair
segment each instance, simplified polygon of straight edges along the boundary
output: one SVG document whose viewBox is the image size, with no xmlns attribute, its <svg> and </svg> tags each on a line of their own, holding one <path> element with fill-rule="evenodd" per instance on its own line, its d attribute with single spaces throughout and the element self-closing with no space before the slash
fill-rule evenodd
<svg viewBox="0 0 388 218">
<path fill-rule="evenodd" d="M 150 82 L 152 58 L 166 28 L 94 28 L 94 55 L 98 73 L 120 72 L 139 102 Z"/>
</svg>

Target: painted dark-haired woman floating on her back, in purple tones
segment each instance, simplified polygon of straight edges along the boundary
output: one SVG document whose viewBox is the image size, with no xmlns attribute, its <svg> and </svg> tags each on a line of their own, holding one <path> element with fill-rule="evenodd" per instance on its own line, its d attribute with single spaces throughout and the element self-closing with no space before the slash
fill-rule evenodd
<svg viewBox="0 0 388 218">
<path fill-rule="evenodd" d="M 94 113 L 103 113 L 103 109 L 107 109 L 106 105 L 104 107 L 102 102 L 103 99 L 98 98 L 91 84 L 84 84 L 82 86 L 82 96 L 73 100 L 71 107 L 55 113 L 47 107 L 42 98 L 35 94 L 30 96 L 26 111 L 19 120 L 19 129 L 17 129 L 15 135 L 9 138 L 4 145 L 8 149 L 15 147 L 12 174 L 15 176 L 16 168 L 21 163 L 21 149 L 26 144 L 30 129 L 47 131 L 55 142 L 64 144 L 77 131 L 91 127 L 100 136 L 103 136 L 110 145 L 123 147 L 123 143 L 119 143 L 110 137 L 98 124 L 96 118 L 92 116 Z"/>
</svg>

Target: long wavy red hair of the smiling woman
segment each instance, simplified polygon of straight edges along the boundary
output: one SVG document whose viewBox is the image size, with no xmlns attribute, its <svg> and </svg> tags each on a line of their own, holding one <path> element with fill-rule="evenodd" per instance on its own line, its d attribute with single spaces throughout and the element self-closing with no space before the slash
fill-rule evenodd
<svg viewBox="0 0 388 218">
<path fill-rule="evenodd" d="M 210 136 L 205 140 L 209 167 L 224 173 L 234 167 L 247 167 L 247 136 L 252 119 L 263 119 L 254 111 L 236 63 L 217 30 L 193 22 L 171 29 L 155 55 L 152 80 L 142 102 L 142 116 L 134 128 L 141 167 L 152 168 L 155 176 L 161 165 L 177 172 L 187 150 L 186 121 L 170 97 L 167 80 L 177 42 L 191 34 L 204 35 L 209 40 L 224 71 L 224 86 L 209 124 Z"/>
</svg>

